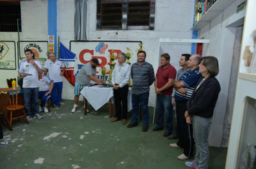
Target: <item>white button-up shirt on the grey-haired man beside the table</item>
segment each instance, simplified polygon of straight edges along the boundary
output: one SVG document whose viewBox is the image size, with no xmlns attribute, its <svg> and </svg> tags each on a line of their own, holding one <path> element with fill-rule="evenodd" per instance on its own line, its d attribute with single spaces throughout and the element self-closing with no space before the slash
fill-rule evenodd
<svg viewBox="0 0 256 169">
<path fill-rule="evenodd" d="M 129 77 L 131 75 L 131 66 L 124 62 L 124 64 L 117 63 L 114 66 L 114 71 L 112 72 L 112 84 L 119 84 L 119 87 L 124 87 L 129 84 Z"/>
</svg>

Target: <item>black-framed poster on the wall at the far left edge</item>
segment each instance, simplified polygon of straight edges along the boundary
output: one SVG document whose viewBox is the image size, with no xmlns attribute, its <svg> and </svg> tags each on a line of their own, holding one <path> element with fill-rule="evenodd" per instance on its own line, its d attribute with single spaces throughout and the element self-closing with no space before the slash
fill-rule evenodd
<svg viewBox="0 0 256 169">
<path fill-rule="evenodd" d="M 16 69 L 14 41 L 0 41 L 0 69 Z"/>
</svg>

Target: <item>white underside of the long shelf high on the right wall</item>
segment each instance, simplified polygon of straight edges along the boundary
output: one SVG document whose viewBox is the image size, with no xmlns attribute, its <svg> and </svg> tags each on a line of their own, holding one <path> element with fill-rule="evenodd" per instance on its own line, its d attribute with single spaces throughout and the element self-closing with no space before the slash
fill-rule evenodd
<svg viewBox="0 0 256 169">
<path fill-rule="evenodd" d="M 216 16 L 218 16 L 221 11 L 224 11 L 224 9 L 227 9 L 231 4 L 234 3 L 236 0 L 218 0 L 216 1 L 208 11 L 201 17 L 199 21 L 196 22 L 196 24 L 191 29 L 201 29 L 206 24 L 209 23 L 212 19 L 214 19 Z"/>
</svg>

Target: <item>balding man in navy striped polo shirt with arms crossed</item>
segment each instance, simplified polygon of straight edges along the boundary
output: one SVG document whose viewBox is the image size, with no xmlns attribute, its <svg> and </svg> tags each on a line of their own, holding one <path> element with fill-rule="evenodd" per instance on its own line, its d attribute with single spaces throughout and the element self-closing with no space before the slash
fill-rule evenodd
<svg viewBox="0 0 256 169">
<path fill-rule="evenodd" d="M 178 160 L 187 160 L 193 155 L 193 130 L 192 125 L 186 123 L 184 116 L 188 100 L 191 99 L 192 92 L 196 85 L 196 82 L 202 74 L 199 73 L 199 67 L 201 56 L 200 54 L 193 54 L 188 59 L 188 67 L 190 71 L 183 74 L 180 79 L 173 82 L 175 87 L 175 105 L 177 112 L 177 130 L 178 130 L 178 143 L 170 144 L 172 148 L 183 148 L 183 154 L 178 156 Z"/>
</svg>

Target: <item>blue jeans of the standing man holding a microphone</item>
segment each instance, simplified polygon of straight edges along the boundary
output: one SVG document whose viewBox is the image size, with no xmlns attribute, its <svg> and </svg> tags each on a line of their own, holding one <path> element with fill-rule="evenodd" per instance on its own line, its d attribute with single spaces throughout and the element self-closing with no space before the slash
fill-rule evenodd
<svg viewBox="0 0 256 169">
<path fill-rule="evenodd" d="M 24 106 L 26 115 L 31 117 L 30 102 L 32 102 L 33 112 L 36 115 L 39 112 L 38 93 L 39 87 L 36 88 L 23 88 L 24 92 Z"/>
</svg>

